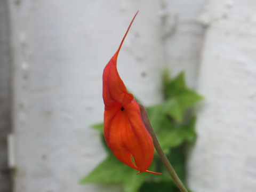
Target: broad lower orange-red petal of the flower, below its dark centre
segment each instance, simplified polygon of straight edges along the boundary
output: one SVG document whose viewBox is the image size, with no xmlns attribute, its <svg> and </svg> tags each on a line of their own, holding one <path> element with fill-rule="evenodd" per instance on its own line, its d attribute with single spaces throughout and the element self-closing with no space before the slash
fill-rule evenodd
<svg viewBox="0 0 256 192">
<path fill-rule="evenodd" d="M 104 135 L 107 145 L 119 161 L 145 172 L 154 156 L 153 141 L 142 122 L 138 103 L 132 100 L 124 106 L 124 110 L 121 108 L 119 103 L 115 103 L 112 109 L 105 110 Z"/>
</svg>

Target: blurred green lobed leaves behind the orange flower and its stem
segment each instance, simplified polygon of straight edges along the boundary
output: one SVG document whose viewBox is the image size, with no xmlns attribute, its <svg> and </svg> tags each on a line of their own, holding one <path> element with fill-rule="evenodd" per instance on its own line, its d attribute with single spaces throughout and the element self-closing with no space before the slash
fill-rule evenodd
<svg viewBox="0 0 256 192">
<path fill-rule="evenodd" d="M 195 123 L 191 106 L 202 99 L 195 91 L 188 89 L 184 73 L 171 79 L 167 73 L 163 75 L 164 101 L 158 105 L 147 107 L 148 116 L 164 153 L 169 158 L 179 178 L 185 183 L 186 151 L 196 139 Z M 108 157 L 100 163 L 80 183 L 119 183 L 125 192 L 179 191 L 169 173 L 155 153 L 150 171 L 162 172 L 162 175 L 140 173 L 119 162 L 107 147 L 103 137 L 103 123 L 93 125 L 93 129 L 101 132 Z M 185 183 L 186 185 L 186 183 Z"/>
</svg>

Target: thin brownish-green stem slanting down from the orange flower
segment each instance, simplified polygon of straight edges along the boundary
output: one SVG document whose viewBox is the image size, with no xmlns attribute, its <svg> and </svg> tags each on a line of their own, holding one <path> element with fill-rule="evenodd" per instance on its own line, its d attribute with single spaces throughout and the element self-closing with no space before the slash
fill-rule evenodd
<svg viewBox="0 0 256 192">
<path fill-rule="evenodd" d="M 140 105 L 140 114 L 141 114 L 142 121 L 153 139 L 155 149 L 156 149 L 159 157 L 161 158 L 164 166 L 166 167 L 167 171 L 171 175 L 174 183 L 177 185 L 177 187 L 180 189 L 180 191 L 188 192 L 187 189 L 185 188 L 185 186 L 183 185 L 183 183 L 181 182 L 180 178 L 176 174 L 175 170 L 173 169 L 171 163 L 167 159 L 166 155 L 164 154 L 164 151 L 163 151 L 162 147 L 160 146 L 160 144 L 156 138 L 156 134 L 149 122 L 148 113 L 147 113 L 146 108 L 144 106 L 142 106 L 141 104 L 139 104 L 139 105 Z"/>
</svg>

